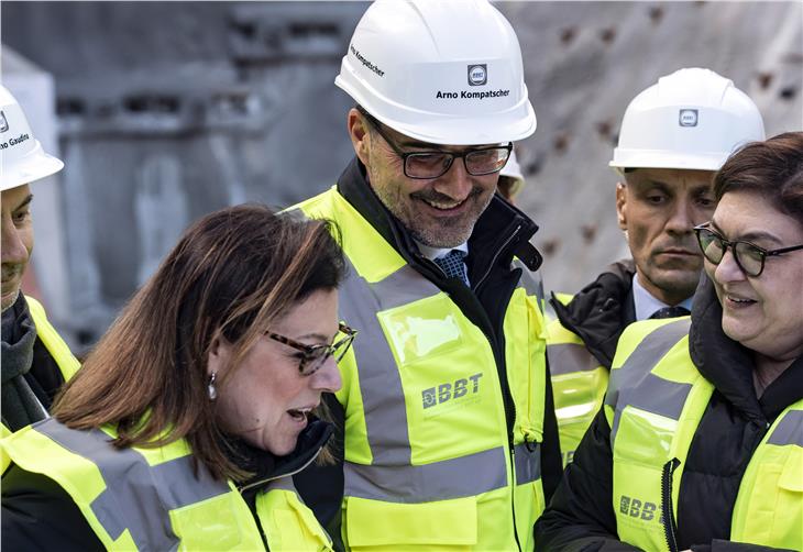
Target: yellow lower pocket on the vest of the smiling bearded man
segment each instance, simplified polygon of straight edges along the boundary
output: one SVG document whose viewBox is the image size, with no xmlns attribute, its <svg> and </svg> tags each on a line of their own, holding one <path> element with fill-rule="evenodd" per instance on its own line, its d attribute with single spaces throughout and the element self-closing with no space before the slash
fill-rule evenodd
<svg viewBox="0 0 803 552">
<path fill-rule="evenodd" d="M 399 504 L 349 497 L 348 547 L 355 551 L 471 550 L 477 542 L 476 499 Z"/>
</svg>

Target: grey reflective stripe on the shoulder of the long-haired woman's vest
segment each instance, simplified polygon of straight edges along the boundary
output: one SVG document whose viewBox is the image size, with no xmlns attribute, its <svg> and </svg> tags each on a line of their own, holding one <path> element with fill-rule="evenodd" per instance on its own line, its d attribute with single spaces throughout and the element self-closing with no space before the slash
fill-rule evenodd
<svg viewBox="0 0 803 552">
<path fill-rule="evenodd" d="M 73 430 L 54 419 L 33 429 L 98 466 L 106 489 L 90 505 L 92 512 L 112 540 L 128 529 L 141 551 L 178 549 L 168 510 L 230 490 L 202 465 L 196 478 L 191 456 L 151 466 L 138 451 L 112 446 L 111 438 L 97 429 Z"/>
</svg>

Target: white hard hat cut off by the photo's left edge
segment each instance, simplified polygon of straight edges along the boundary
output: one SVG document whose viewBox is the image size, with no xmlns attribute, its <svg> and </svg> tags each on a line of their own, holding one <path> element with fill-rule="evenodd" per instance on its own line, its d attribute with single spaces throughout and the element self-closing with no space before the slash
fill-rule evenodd
<svg viewBox="0 0 803 552">
<path fill-rule="evenodd" d="M 11 92 L 0 86 L 0 189 L 8 190 L 58 173 L 64 163 L 42 150 Z"/>
</svg>

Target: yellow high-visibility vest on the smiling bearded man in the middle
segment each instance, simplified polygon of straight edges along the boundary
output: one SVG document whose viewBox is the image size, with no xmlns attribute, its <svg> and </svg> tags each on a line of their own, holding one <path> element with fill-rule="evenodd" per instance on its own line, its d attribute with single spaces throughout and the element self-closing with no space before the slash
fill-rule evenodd
<svg viewBox="0 0 803 552">
<path fill-rule="evenodd" d="M 297 206 L 342 231 L 342 539 L 352 550 L 531 550 L 544 508 L 546 323 L 524 271 L 504 319 L 508 435 L 492 345 L 332 188 Z"/>
</svg>

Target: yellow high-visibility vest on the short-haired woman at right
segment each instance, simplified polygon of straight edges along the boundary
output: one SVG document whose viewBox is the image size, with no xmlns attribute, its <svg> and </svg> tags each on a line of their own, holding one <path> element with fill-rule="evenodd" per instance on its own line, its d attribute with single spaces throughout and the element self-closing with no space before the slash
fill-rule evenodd
<svg viewBox="0 0 803 552">
<path fill-rule="evenodd" d="M 689 327 L 688 317 L 629 325 L 619 340 L 605 398 L 617 532 L 624 542 L 648 551 L 669 550 L 662 478 L 664 484 L 672 482 L 672 516 L 676 516 L 689 448 L 714 390 L 689 354 Z M 770 426 L 748 463 L 730 539 L 803 550 L 802 520 L 803 400 L 799 400 Z"/>
</svg>

